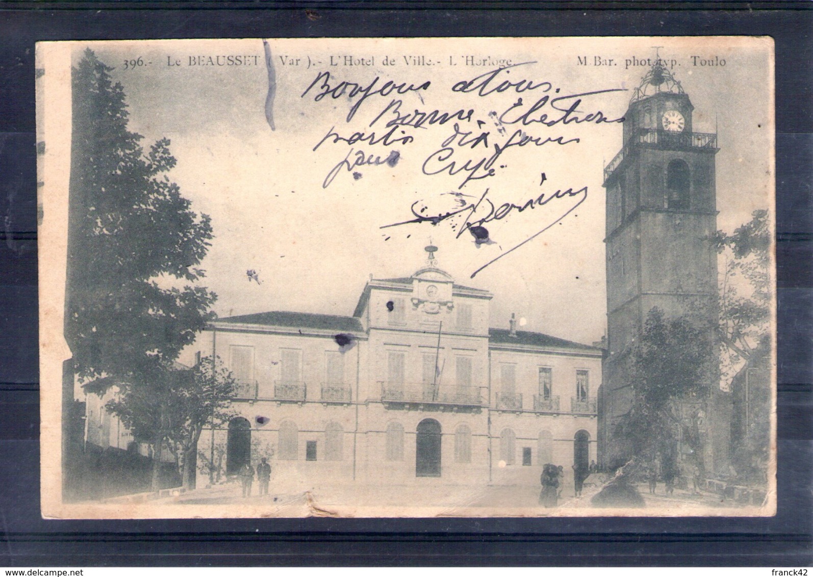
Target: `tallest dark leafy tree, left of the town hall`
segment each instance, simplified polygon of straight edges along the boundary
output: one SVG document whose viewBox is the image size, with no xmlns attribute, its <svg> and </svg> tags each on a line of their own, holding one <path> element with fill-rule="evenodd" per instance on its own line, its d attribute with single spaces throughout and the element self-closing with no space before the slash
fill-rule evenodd
<svg viewBox="0 0 813 577">
<path fill-rule="evenodd" d="M 72 69 L 65 337 L 86 390 L 122 382 L 125 398 L 152 406 L 157 483 L 172 362 L 212 318 L 216 295 L 189 284 L 205 275 L 212 229 L 167 177 L 169 141 L 145 152 L 128 130 L 112 70 L 92 50 Z"/>
</svg>

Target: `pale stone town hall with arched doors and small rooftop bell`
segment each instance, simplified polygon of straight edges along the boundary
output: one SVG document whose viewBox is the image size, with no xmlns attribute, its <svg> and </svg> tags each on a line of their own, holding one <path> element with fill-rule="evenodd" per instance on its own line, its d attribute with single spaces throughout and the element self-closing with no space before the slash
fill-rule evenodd
<svg viewBox="0 0 813 577">
<path fill-rule="evenodd" d="M 367 282 L 353 315 L 219 319 L 186 350 L 240 383 L 240 416 L 202 433 L 227 475 L 271 459 L 275 483 L 539 483 L 597 458 L 602 349 L 489 328 L 493 295 L 454 283 L 427 247 L 409 277 Z M 207 483 L 202 474 L 198 483 Z"/>
</svg>

